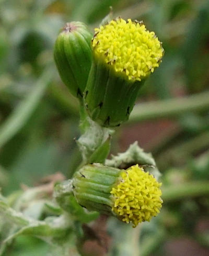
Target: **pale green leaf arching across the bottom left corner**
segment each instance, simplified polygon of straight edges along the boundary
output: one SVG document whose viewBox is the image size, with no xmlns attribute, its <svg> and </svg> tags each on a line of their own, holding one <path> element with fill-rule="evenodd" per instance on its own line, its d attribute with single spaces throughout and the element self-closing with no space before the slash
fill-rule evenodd
<svg viewBox="0 0 209 256">
<path fill-rule="evenodd" d="M 68 215 L 48 217 L 40 221 L 28 217 L 21 212 L 17 212 L 1 199 L 0 219 L 2 220 L 4 218 L 4 222 L 0 222 L 3 224 L 3 226 L 0 225 L 2 231 L 0 236 L 0 255 L 5 252 L 6 247 L 15 238 L 21 235 L 38 237 L 48 242 L 52 250 L 50 251 L 50 255 L 68 256 L 69 251 L 74 253 L 71 255 L 79 255 L 75 247 L 76 236 L 73 232 L 73 222 Z"/>
</svg>

